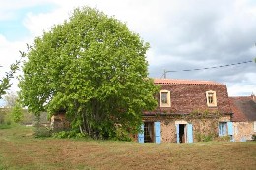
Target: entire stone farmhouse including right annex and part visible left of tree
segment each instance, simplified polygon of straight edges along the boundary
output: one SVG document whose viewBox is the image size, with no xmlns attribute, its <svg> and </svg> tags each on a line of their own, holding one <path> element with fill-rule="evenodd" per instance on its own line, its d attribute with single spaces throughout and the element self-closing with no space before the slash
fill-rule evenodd
<svg viewBox="0 0 256 170">
<path fill-rule="evenodd" d="M 228 97 L 226 85 L 213 81 L 154 79 L 158 107 L 143 113 L 139 143 L 193 143 L 205 137 L 251 140 L 256 134 L 255 96 Z M 65 111 L 51 118 L 55 130 L 67 129 Z"/>
</svg>

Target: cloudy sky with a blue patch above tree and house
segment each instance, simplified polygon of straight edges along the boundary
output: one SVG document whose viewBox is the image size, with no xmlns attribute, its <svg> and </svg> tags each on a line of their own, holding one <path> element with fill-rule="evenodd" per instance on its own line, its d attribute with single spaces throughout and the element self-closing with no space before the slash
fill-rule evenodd
<svg viewBox="0 0 256 170">
<path fill-rule="evenodd" d="M 230 96 L 256 94 L 256 63 L 249 62 L 256 58 L 254 0 L 0 0 L 0 4 L 1 77 L 19 60 L 19 51 L 26 51 L 26 44 L 67 20 L 74 8 L 89 6 L 126 23 L 150 43 L 151 78 L 162 78 L 164 70 L 176 71 L 166 77 L 223 83 Z M 14 80 L 10 90 L 19 90 L 17 83 Z"/>
</svg>

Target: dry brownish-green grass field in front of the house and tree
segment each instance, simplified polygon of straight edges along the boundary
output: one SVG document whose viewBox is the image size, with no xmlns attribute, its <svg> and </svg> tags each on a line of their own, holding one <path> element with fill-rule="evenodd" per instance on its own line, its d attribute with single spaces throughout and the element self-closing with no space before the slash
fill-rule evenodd
<svg viewBox="0 0 256 170">
<path fill-rule="evenodd" d="M 18 126 L 0 129 L 1 169 L 256 169 L 256 142 L 36 139 L 32 128 Z"/>
</svg>

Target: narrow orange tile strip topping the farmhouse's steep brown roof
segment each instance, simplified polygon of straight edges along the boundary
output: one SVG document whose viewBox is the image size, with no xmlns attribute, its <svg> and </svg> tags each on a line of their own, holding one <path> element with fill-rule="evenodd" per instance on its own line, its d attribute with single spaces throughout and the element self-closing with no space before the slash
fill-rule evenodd
<svg viewBox="0 0 256 170">
<path fill-rule="evenodd" d="M 154 79 L 154 84 L 158 85 L 224 85 L 213 81 L 199 81 L 199 80 L 178 80 L 178 79 Z"/>
</svg>

